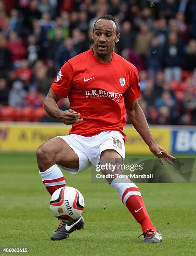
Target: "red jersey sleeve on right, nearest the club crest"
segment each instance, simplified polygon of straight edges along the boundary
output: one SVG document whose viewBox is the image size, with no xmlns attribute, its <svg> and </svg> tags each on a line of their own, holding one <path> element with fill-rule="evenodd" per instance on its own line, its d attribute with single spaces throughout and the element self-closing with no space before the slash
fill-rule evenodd
<svg viewBox="0 0 196 256">
<path fill-rule="evenodd" d="M 123 96 L 128 101 L 134 101 L 140 97 L 140 82 L 136 67 L 132 69 L 130 86 L 127 88 Z"/>
</svg>

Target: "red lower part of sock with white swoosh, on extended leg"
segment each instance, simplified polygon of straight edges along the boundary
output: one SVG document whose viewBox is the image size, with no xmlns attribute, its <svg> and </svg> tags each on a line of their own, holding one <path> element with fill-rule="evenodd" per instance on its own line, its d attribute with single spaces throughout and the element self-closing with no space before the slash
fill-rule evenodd
<svg viewBox="0 0 196 256">
<path fill-rule="evenodd" d="M 137 191 L 140 192 L 140 190 L 138 188 L 134 188 L 134 190 L 135 189 L 137 189 Z M 123 193 L 122 202 L 123 202 L 125 195 L 128 192 L 127 190 L 128 189 L 126 189 L 125 192 Z M 144 205 L 144 202 L 143 202 L 143 199 L 141 196 L 130 195 L 130 197 L 128 197 L 125 204 L 127 206 L 127 209 L 132 213 L 135 220 L 137 220 L 137 222 L 140 223 L 143 232 L 146 231 L 147 229 L 152 229 L 152 230 L 157 231 L 156 228 L 154 227 L 153 223 L 150 220 L 150 217 L 148 215 L 148 212 L 145 208 L 145 205 Z"/>
</svg>

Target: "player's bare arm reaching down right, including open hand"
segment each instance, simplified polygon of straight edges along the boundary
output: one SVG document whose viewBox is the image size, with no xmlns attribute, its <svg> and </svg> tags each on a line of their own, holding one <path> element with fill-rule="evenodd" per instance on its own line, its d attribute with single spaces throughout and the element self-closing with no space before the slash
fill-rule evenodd
<svg viewBox="0 0 196 256">
<path fill-rule="evenodd" d="M 168 162 L 168 164 L 172 164 L 170 160 L 176 162 L 177 159 L 165 151 L 164 148 L 159 146 L 154 140 L 152 133 L 150 132 L 150 128 L 148 126 L 147 120 L 141 109 L 137 100 L 127 101 L 125 100 L 125 108 L 127 111 L 127 115 L 132 125 L 135 127 L 136 131 L 143 138 L 145 143 L 149 146 L 150 151 L 158 157 L 161 164 L 163 163 L 163 159 Z"/>
</svg>

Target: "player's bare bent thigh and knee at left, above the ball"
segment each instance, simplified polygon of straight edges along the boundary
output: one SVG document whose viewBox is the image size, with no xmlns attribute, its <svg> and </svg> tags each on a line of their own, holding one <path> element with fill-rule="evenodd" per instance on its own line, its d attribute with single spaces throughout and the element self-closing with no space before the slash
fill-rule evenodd
<svg viewBox="0 0 196 256">
<path fill-rule="evenodd" d="M 70 168 L 79 167 L 79 158 L 74 150 L 59 137 L 52 138 L 37 150 L 37 158 L 51 159 L 56 164 Z"/>
</svg>

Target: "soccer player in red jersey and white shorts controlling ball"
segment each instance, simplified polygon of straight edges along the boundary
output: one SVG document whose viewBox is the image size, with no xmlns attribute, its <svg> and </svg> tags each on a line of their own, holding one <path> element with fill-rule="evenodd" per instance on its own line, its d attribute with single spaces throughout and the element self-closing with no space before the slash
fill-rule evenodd
<svg viewBox="0 0 196 256">
<path fill-rule="evenodd" d="M 126 113 L 150 151 L 163 164 L 177 161 L 154 140 L 150 133 L 140 97 L 138 72 L 135 66 L 115 54 L 120 39 L 118 24 L 111 15 L 103 15 L 94 24 L 94 48 L 66 61 L 44 101 L 51 118 L 72 125 L 68 136 L 57 136 L 37 150 L 39 173 L 48 192 L 65 186 L 65 178 L 57 166 L 76 174 L 97 164 L 122 164 L 125 158 Z M 56 104 L 69 97 L 70 110 L 62 111 Z M 104 174 L 110 170 L 102 171 Z M 114 174 L 114 173 L 113 173 Z M 115 170 L 122 174 L 122 170 Z M 161 242 L 162 237 L 150 220 L 138 187 L 130 180 L 107 179 L 120 195 L 123 204 L 140 223 L 145 243 Z M 82 228 L 84 219 L 61 221 L 52 240 L 67 238 Z"/>
</svg>

